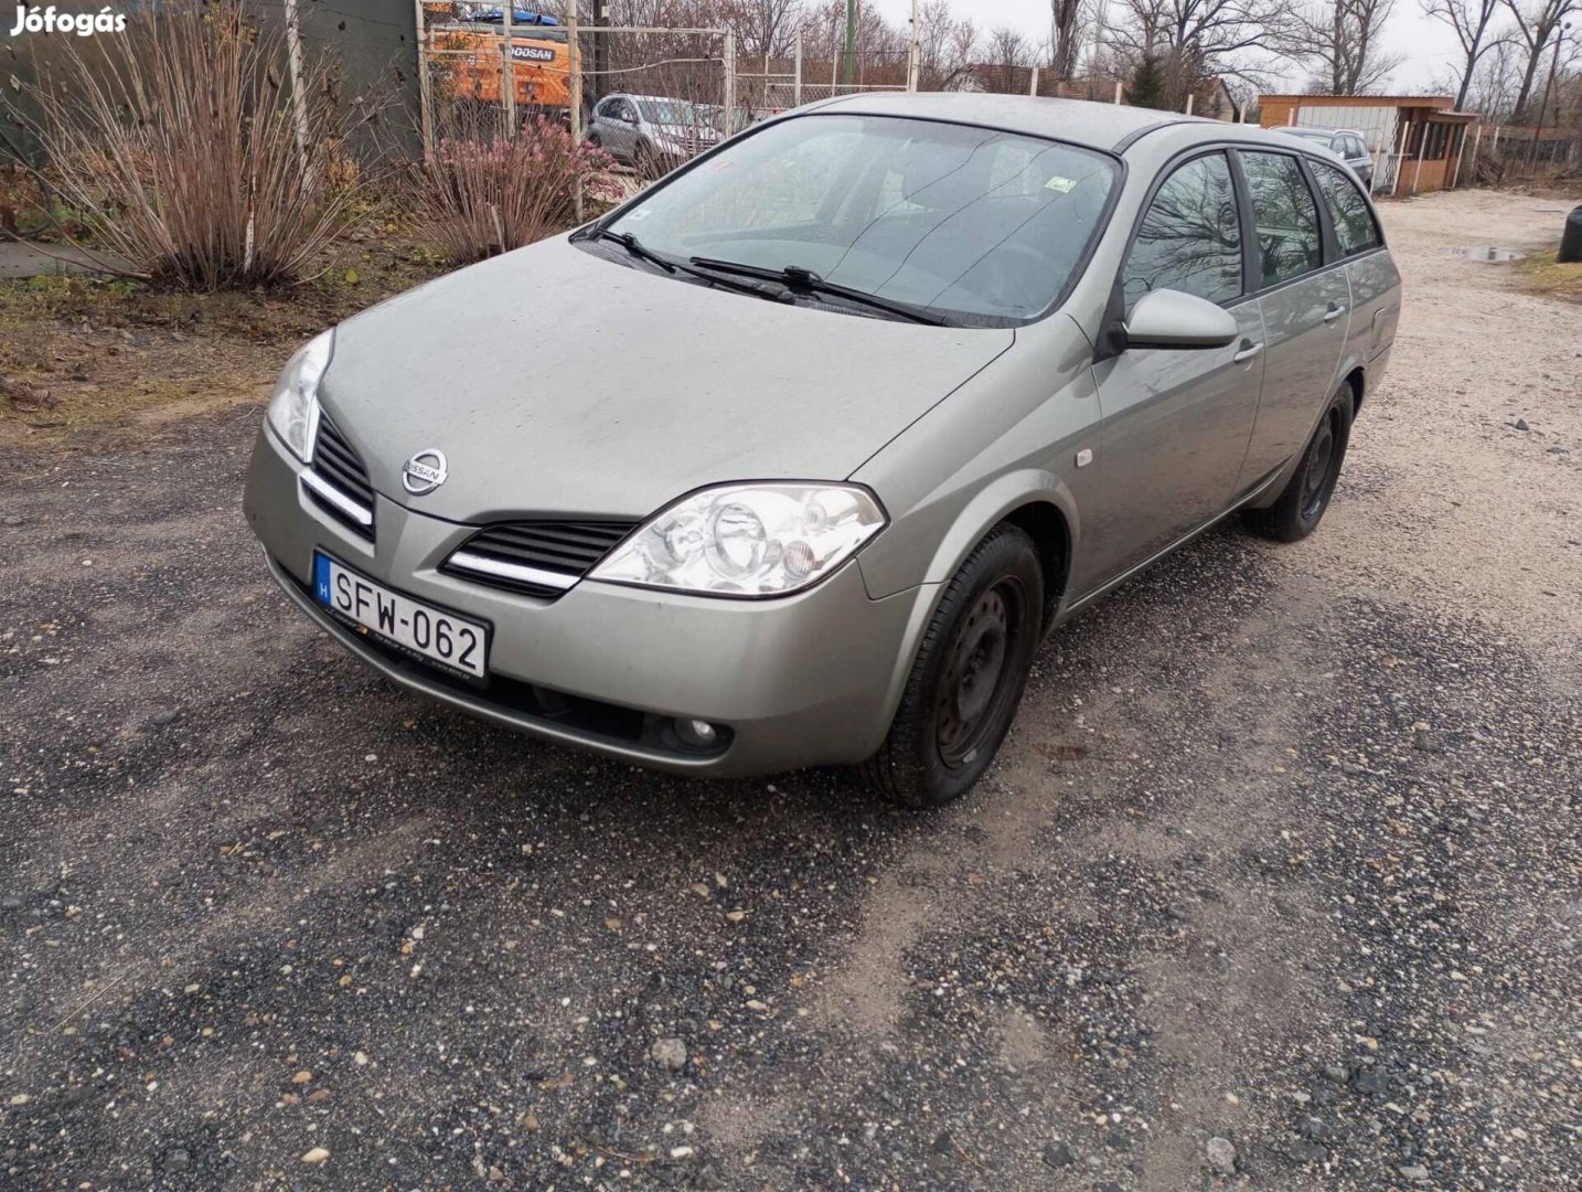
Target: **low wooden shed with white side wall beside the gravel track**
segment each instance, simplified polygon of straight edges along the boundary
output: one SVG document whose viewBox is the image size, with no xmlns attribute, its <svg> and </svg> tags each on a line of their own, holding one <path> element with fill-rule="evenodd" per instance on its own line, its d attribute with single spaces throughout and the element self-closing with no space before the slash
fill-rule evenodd
<svg viewBox="0 0 1582 1192">
<path fill-rule="evenodd" d="M 1373 154 L 1373 190 L 1417 195 L 1459 182 L 1467 133 L 1476 112 L 1455 111 L 1449 95 L 1262 95 L 1264 128 L 1349 128 Z"/>
</svg>

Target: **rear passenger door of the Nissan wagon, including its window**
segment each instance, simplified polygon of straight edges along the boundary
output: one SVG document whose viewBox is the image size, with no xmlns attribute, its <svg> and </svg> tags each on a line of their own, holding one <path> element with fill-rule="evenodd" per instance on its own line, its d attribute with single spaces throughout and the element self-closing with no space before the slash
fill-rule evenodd
<svg viewBox="0 0 1582 1192">
<path fill-rule="evenodd" d="M 1307 443 L 1335 389 L 1351 290 L 1302 155 L 1237 149 L 1251 220 L 1253 285 L 1264 320 L 1264 388 L 1239 491 L 1262 483 Z"/>
</svg>

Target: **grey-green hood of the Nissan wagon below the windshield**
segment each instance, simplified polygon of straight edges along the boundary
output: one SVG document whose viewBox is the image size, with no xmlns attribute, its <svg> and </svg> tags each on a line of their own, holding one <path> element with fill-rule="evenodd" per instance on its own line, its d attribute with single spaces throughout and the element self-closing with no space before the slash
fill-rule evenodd
<svg viewBox="0 0 1582 1192">
<path fill-rule="evenodd" d="M 729 480 L 843 480 L 1009 329 L 766 302 L 557 237 L 348 320 L 320 400 L 375 489 L 456 521 L 641 518 Z M 438 450 L 446 481 L 402 488 Z"/>
</svg>

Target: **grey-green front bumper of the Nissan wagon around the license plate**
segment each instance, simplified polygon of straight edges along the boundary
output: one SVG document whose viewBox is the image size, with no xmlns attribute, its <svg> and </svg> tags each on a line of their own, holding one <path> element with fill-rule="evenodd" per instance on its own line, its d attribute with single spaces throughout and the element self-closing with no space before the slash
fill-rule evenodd
<svg viewBox="0 0 1582 1192">
<path fill-rule="evenodd" d="M 929 614 L 929 589 L 870 600 L 850 564 L 810 590 L 777 600 L 718 600 L 590 579 L 555 600 L 514 595 L 438 570 L 476 526 L 377 495 L 370 543 L 302 492 L 302 470 L 261 431 L 244 510 L 271 573 L 326 632 L 403 687 L 644 766 L 732 777 L 870 757 L 889 728 Z M 473 685 L 399 657 L 315 605 L 315 548 L 418 600 L 487 621 L 492 682 Z M 566 714 L 568 706 L 611 714 Z M 728 744 L 699 754 L 652 731 L 676 717 L 725 725 Z"/>
</svg>

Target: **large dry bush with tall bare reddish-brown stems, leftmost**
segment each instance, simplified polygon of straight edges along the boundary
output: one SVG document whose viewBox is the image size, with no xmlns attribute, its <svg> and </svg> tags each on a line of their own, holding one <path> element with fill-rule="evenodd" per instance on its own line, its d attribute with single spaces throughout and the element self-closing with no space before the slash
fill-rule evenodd
<svg viewBox="0 0 1582 1192">
<path fill-rule="evenodd" d="M 84 41 L 85 44 L 74 44 Z M 285 35 L 245 0 L 139 8 L 122 35 L 70 38 L 33 89 L 59 199 L 131 271 L 198 290 L 301 277 L 343 228 L 362 174 L 331 63 L 288 82 Z"/>
</svg>

